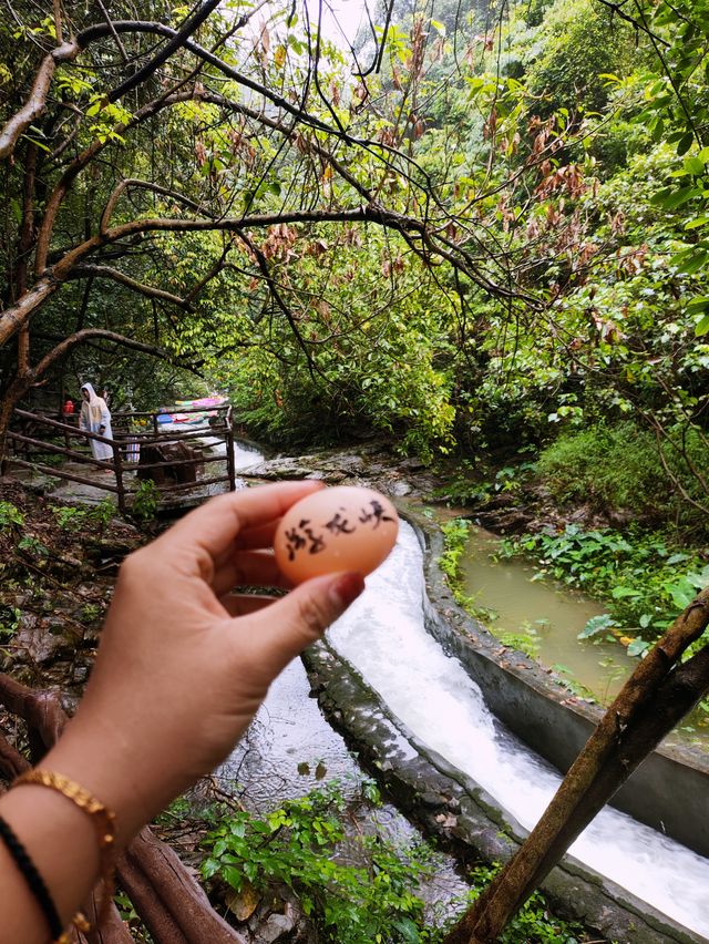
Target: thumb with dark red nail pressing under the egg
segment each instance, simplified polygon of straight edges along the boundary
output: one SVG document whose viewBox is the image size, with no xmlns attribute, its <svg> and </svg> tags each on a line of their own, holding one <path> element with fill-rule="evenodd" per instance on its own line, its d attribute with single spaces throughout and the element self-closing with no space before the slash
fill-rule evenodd
<svg viewBox="0 0 709 944">
<path fill-rule="evenodd" d="M 249 617 L 274 677 L 319 639 L 363 589 L 364 579 L 357 573 L 314 577 Z"/>
</svg>

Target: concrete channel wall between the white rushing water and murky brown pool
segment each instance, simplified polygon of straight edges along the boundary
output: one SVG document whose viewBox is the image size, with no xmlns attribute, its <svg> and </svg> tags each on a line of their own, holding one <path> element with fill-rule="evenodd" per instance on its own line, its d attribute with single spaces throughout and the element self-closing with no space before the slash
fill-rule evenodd
<svg viewBox="0 0 709 944">
<path fill-rule="evenodd" d="M 480 686 L 493 715 L 565 773 L 603 709 L 571 695 L 540 665 L 502 646 L 459 607 L 438 565 L 444 550 L 440 531 L 427 521 L 411 523 L 424 547 L 427 628 Z M 659 747 L 610 804 L 709 858 L 709 760 L 701 751 Z"/>
</svg>

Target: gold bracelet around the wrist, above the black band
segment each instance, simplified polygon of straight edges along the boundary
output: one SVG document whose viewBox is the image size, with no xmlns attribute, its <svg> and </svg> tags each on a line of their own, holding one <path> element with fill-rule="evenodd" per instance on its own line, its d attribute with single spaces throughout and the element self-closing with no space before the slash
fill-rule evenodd
<svg viewBox="0 0 709 944">
<path fill-rule="evenodd" d="M 104 807 L 89 790 L 64 777 L 63 773 L 55 773 L 51 770 L 28 770 L 27 773 L 20 774 L 12 786 L 18 787 L 20 783 L 34 783 L 39 787 L 56 790 L 91 817 L 99 840 L 101 879 L 103 880 L 103 897 L 96 919 L 96 926 L 99 926 L 111 906 L 115 887 L 115 813 Z M 91 930 L 91 925 L 81 912 L 73 917 L 72 924 L 84 933 Z M 69 944 L 69 941 L 68 935 L 62 934 L 58 944 Z"/>
</svg>

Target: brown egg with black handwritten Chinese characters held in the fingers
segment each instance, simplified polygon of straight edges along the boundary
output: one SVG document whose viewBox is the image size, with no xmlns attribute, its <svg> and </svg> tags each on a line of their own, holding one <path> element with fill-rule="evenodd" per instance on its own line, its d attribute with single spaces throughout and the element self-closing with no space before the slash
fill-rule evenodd
<svg viewBox="0 0 709 944">
<path fill-rule="evenodd" d="M 274 537 L 276 563 L 294 584 L 336 571 L 371 574 L 397 543 L 399 515 L 372 489 L 337 485 L 288 509 Z"/>
</svg>

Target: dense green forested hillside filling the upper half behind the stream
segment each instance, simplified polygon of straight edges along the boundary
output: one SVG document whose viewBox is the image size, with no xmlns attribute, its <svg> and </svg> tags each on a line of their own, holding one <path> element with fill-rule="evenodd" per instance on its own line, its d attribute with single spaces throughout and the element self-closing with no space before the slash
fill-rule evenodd
<svg viewBox="0 0 709 944">
<path fill-rule="evenodd" d="M 48 379 L 218 388 L 279 442 L 554 444 L 563 495 L 612 455 L 700 527 L 706 6 L 370 14 L 8 8 L 0 427 Z"/>
</svg>

